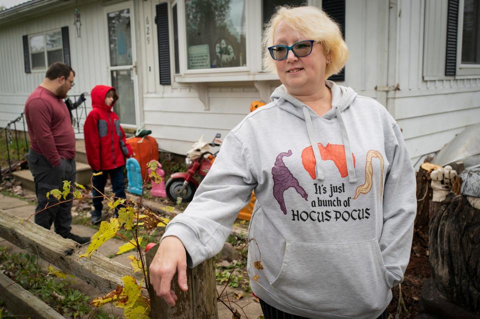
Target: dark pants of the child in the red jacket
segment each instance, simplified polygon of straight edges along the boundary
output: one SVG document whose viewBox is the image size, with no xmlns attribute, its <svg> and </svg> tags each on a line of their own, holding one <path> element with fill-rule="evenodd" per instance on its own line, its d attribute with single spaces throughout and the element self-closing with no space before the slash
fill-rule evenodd
<svg viewBox="0 0 480 319">
<path fill-rule="evenodd" d="M 108 176 L 110 176 L 111 190 L 113 193 L 115 193 L 115 197 L 126 198 L 123 167 L 124 166 L 120 166 L 115 169 L 104 170 L 102 171 L 103 174 L 93 176 L 93 179 L 92 179 L 93 186 L 98 191 L 105 194 L 106 179 Z M 98 171 L 93 171 L 93 172 L 97 173 Z M 101 194 L 98 193 L 95 188 L 92 188 L 91 190 L 93 197 L 101 196 Z M 103 198 L 101 197 L 93 198 L 92 201 L 93 201 L 93 207 L 95 208 L 95 210 L 91 213 L 91 216 L 101 217 L 101 210 L 103 209 L 103 204 L 101 202 L 103 201 Z M 118 206 L 118 207 L 121 208 L 122 206 Z M 115 209 L 115 215 L 118 215 L 118 209 Z"/>
</svg>

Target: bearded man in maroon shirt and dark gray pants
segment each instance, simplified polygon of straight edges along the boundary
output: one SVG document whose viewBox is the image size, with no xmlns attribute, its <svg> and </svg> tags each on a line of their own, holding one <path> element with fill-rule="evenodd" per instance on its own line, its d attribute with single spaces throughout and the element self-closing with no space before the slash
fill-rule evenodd
<svg viewBox="0 0 480 319">
<path fill-rule="evenodd" d="M 71 126 L 68 109 L 63 102 L 71 89 L 75 72 L 66 64 L 55 62 L 48 67 L 43 82 L 28 96 L 25 102 L 25 118 L 30 136 L 28 166 L 33 181 L 37 206 L 35 212 L 57 200 L 46 193 L 62 189 L 62 181 L 75 182 L 75 133 Z M 71 199 L 69 194 L 66 198 Z M 87 243 L 89 237 L 80 237 L 70 232 L 71 204 L 64 202 L 35 215 L 35 224 L 46 229 L 54 225 L 55 233 L 79 244 Z"/>
</svg>

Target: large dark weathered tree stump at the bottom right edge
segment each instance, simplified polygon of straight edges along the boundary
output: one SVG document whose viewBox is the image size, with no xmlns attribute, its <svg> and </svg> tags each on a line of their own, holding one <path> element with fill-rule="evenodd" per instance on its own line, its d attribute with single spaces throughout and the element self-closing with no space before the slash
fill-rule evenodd
<svg viewBox="0 0 480 319">
<path fill-rule="evenodd" d="M 430 224 L 430 267 L 438 292 L 480 314 L 480 210 L 450 194 Z"/>
</svg>

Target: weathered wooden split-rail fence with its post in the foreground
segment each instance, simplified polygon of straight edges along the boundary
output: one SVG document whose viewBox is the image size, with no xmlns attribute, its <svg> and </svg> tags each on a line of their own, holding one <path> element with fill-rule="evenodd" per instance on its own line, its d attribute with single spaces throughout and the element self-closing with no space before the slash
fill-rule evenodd
<svg viewBox="0 0 480 319">
<path fill-rule="evenodd" d="M 0 209 L 0 237 L 56 266 L 62 272 L 83 280 L 102 293 L 107 294 L 117 285 L 122 285 L 121 277 L 125 275 L 133 276 L 137 281 L 143 279 L 135 275 L 130 268 L 98 253 L 93 253 L 90 259 L 78 259 L 78 255 L 85 253 L 86 247 L 72 240 L 63 239 L 31 221 L 22 222 L 22 220 Z M 158 245 L 148 251 L 148 265 L 157 247 Z M 188 269 L 187 277 L 188 292 L 180 291 L 176 284 L 176 276 L 174 278 L 172 289 L 178 300 L 173 308 L 167 306 L 150 291 L 152 319 L 218 318 L 213 260 L 210 259 L 194 269 Z M 146 291 L 143 294 L 148 296 Z M 13 315 L 31 318 L 63 318 L 20 286 L 12 285 L 11 280 L 1 273 L 0 300 Z"/>
</svg>

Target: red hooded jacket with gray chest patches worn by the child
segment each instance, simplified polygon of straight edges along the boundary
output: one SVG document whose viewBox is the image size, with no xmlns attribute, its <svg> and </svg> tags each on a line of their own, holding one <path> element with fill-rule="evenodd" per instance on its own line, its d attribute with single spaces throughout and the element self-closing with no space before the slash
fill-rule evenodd
<svg viewBox="0 0 480 319">
<path fill-rule="evenodd" d="M 85 151 L 88 164 L 93 170 L 111 170 L 125 165 L 125 157 L 133 152 L 125 142 L 125 133 L 120 126 L 118 116 L 105 104 L 106 93 L 114 89 L 111 86 L 97 85 L 91 90 L 92 110 L 83 126 Z"/>
</svg>

